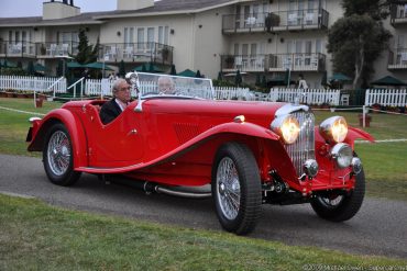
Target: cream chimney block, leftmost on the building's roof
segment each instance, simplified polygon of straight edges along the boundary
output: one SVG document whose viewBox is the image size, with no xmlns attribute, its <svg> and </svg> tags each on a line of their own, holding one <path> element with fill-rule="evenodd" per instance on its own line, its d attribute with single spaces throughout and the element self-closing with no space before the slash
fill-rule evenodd
<svg viewBox="0 0 407 271">
<path fill-rule="evenodd" d="M 56 20 L 80 14 L 80 8 L 74 5 L 74 0 L 63 0 L 58 2 L 51 0 L 51 2 L 43 3 L 43 20 Z"/>
</svg>

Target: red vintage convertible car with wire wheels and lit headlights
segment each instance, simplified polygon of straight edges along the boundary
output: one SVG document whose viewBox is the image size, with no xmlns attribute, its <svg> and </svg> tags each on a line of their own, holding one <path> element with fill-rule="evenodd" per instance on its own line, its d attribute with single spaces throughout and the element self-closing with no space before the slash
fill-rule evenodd
<svg viewBox="0 0 407 271">
<path fill-rule="evenodd" d="M 32 120 L 28 149 L 43 151 L 53 183 L 70 185 L 87 172 L 120 176 L 146 192 L 213 196 L 220 224 L 239 235 L 254 229 L 265 203 L 310 203 L 333 222 L 360 210 L 365 178 L 354 140 L 374 139 L 343 117 L 315 126 L 307 105 L 217 101 L 208 79 L 174 77 L 174 94 L 158 93 L 156 75 L 127 79 L 138 99 L 107 125 L 103 100 L 68 102 Z"/>
</svg>

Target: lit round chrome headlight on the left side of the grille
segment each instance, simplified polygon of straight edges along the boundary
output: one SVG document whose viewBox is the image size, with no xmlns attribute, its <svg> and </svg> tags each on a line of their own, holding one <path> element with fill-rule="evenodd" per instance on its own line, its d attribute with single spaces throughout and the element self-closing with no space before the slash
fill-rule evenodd
<svg viewBox="0 0 407 271">
<path fill-rule="evenodd" d="M 299 135 L 299 123 L 294 115 L 278 116 L 272 122 L 272 131 L 283 137 L 286 144 L 293 144 Z"/>
</svg>

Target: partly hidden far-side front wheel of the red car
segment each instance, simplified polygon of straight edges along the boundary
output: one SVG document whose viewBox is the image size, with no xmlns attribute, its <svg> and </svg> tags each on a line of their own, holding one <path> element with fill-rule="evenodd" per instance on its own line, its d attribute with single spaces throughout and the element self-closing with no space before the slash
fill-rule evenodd
<svg viewBox="0 0 407 271">
<path fill-rule="evenodd" d="M 363 169 L 355 177 L 355 187 L 349 193 L 318 194 L 312 197 L 311 206 L 322 218 L 331 222 L 343 222 L 352 218 L 361 208 L 365 193 L 365 178 Z"/>
</svg>

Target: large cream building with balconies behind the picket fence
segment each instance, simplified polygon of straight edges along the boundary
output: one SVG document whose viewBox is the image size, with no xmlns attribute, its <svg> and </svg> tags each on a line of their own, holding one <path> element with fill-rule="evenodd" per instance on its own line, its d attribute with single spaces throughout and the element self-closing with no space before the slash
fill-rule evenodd
<svg viewBox="0 0 407 271">
<path fill-rule="evenodd" d="M 375 64 L 374 79 L 393 75 L 407 81 L 407 5 L 397 1 L 385 26 L 391 47 Z M 99 60 L 128 70 L 155 63 L 169 70 L 257 74 L 267 80 L 302 74 L 310 88 L 332 75 L 327 53 L 329 27 L 343 14 L 339 0 L 118 0 L 117 10 L 81 13 L 74 0 L 43 3 L 43 15 L 0 18 L 0 59 L 34 60 L 55 70 L 77 53 L 79 29 L 90 44 L 100 38 Z"/>
</svg>

